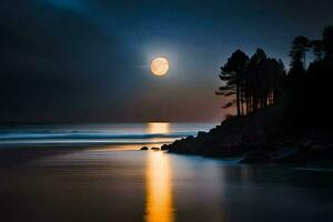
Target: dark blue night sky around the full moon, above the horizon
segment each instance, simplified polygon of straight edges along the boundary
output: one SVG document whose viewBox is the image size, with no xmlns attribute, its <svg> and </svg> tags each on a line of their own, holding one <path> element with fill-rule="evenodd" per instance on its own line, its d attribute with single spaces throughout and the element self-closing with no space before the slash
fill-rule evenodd
<svg viewBox="0 0 333 222">
<path fill-rule="evenodd" d="M 260 47 L 289 63 L 332 0 L 2 0 L 0 122 L 218 121 L 220 67 Z M 151 74 L 158 56 L 170 61 Z"/>
</svg>

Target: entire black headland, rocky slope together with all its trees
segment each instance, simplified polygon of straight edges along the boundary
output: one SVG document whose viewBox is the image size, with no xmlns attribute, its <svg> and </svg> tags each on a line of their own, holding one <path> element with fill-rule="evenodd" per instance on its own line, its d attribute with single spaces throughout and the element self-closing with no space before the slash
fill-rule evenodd
<svg viewBox="0 0 333 222">
<path fill-rule="evenodd" d="M 309 57 L 311 56 L 311 57 Z M 164 145 L 172 153 L 241 158 L 242 163 L 333 165 L 333 27 L 300 36 L 291 63 L 236 50 L 221 67 L 218 95 L 236 113 L 209 132 Z"/>
</svg>

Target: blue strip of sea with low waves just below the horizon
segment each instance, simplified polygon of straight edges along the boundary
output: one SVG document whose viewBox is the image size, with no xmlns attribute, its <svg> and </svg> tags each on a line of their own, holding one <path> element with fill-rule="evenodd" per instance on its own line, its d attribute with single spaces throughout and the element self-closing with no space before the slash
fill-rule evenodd
<svg viewBox="0 0 333 222">
<path fill-rule="evenodd" d="M 213 123 L 168 122 L 2 127 L 0 145 L 159 144 L 195 135 L 212 127 Z"/>
</svg>

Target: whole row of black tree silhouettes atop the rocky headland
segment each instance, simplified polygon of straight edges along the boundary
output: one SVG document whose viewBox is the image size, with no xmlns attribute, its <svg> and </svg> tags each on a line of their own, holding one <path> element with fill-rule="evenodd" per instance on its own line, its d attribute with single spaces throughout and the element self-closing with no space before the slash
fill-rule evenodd
<svg viewBox="0 0 333 222">
<path fill-rule="evenodd" d="M 306 63 L 312 50 L 313 61 Z M 236 50 L 221 68 L 223 84 L 216 94 L 235 95 L 223 108 L 236 104 L 236 114 L 245 115 L 272 104 L 279 105 L 282 124 L 292 128 L 333 125 L 333 27 L 324 29 L 322 39 L 296 37 L 290 50 L 286 73 L 281 60 L 269 58 L 263 49 L 249 57 Z"/>
</svg>

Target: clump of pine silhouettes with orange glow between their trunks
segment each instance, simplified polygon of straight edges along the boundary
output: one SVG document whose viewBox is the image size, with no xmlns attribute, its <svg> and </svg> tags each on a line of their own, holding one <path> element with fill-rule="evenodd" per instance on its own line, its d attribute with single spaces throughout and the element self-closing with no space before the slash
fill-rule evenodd
<svg viewBox="0 0 333 222">
<path fill-rule="evenodd" d="M 238 115 L 250 114 L 278 101 L 284 77 L 283 62 L 268 58 L 263 49 L 256 49 L 251 59 L 238 50 L 221 68 L 220 79 L 224 84 L 216 94 L 236 94 Z M 231 105 L 229 102 L 223 108 Z"/>
</svg>

